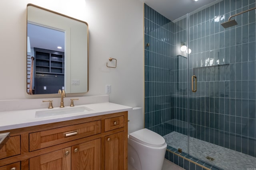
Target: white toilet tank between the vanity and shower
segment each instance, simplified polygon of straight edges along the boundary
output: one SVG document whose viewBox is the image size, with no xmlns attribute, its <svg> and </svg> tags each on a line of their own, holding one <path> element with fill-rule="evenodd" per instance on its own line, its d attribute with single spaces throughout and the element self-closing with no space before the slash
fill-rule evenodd
<svg viewBox="0 0 256 170">
<path fill-rule="evenodd" d="M 141 107 L 133 107 L 128 111 L 128 134 L 143 129 L 143 113 Z"/>
</svg>

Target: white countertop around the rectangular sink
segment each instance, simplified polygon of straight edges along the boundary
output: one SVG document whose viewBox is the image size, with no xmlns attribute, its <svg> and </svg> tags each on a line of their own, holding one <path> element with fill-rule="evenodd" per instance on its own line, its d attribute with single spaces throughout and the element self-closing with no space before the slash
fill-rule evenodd
<svg viewBox="0 0 256 170">
<path fill-rule="evenodd" d="M 132 110 L 132 107 L 109 103 L 109 102 L 77 105 L 72 108 L 81 107 L 81 106 L 85 106 L 89 108 L 90 111 L 87 111 L 86 113 L 84 112 L 69 113 L 64 115 L 54 115 L 54 116 L 48 116 L 48 117 L 35 117 L 35 113 L 36 111 L 43 111 L 43 110 L 54 111 L 56 109 L 65 109 L 65 108 L 71 108 L 71 107 L 65 106 L 64 108 L 54 107 L 53 109 L 46 108 L 46 109 L 28 109 L 28 110 L 17 110 L 17 111 L 2 111 L 0 112 L 0 131 Z"/>
</svg>

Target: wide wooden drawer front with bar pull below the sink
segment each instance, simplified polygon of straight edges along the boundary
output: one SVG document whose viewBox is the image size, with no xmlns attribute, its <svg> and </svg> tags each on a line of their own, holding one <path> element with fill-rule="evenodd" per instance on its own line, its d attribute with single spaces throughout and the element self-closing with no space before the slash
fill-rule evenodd
<svg viewBox="0 0 256 170">
<path fill-rule="evenodd" d="M 101 133 L 101 121 L 60 127 L 29 134 L 29 151 L 38 150 Z"/>
</svg>

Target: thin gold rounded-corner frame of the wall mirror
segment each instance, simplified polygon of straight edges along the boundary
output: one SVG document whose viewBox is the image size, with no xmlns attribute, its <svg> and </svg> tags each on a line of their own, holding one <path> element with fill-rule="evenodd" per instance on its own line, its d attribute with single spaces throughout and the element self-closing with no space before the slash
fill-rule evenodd
<svg viewBox="0 0 256 170">
<path fill-rule="evenodd" d="M 42 8 L 42 7 L 34 5 L 34 4 L 27 4 L 27 8 L 26 8 L 26 17 L 27 17 L 27 20 L 26 20 L 26 35 L 27 36 L 28 36 L 28 7 L 29 6 L 32 6 L 32 7 L 38 8 L 40 10 L 44 10 L 46 12 L 57 14 L 59 16 L 63 16 L 65 18 L 69 18 L 69 19 L 72 19 L 72 20 L 75 20 L 75 21 L 79 21 L 81 23 L 86 24 L 86 26 L 87 26 L 87 91 L 86 92 L 77 92 L 77 93 L 67 93 L 67 94 L 87 93 L 88 90 L 89 90 L 89 68 L 88 68 L 89 67 L 89 27 L 88 27 L 88 23 L 86 21 L 78 20 L 76 18 L 72 18 L 70 16 L 66 16 L 64 14 L 60 14 L 58 12 L 55 12 L 55 11 L 52 11 L 52 10 L 48 10 L 46 8 Z M 65 37 L 65 39 L 66 39 L 66 37 Z M 65 45 L 66 45 L 66 42 L 65 42 Z M 27 55 L 28 55 L 27 49 L 28 49 L 28 38 L 26 37 L 26 61 L 27 61 Z M 65 49 L 65 51 L 66 51 L 66 49 Z M 70 57 L 71 56 L 72 55 L 70 55 Z M 28 72 L 28 61 L 26 62 L 26 69 L 27 69 L 26 72 Z M 66 84 L 66 82 L 65 82 L 65 84 Z M 71 86 L 71 79 L 70 79 L 70 86 Z M 28 92 L 28 76 L 26 76 L 26 92 L 27 92 L 27 94 L 30 94 Z M 53 94 L 53 93 L 49 93 L 49 94 Z M 58 92 L 56 92 L 56 94 L 58 94 Z M 32 94 L 32 95 L 40 95 L 40 94 Z"/>
</svg>

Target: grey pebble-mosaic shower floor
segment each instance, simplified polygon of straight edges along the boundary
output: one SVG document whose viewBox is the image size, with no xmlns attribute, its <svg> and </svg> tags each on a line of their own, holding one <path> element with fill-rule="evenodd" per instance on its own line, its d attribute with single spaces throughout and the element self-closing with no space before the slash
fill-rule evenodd
<svg viewBox="0 0 256 170">
<path fill-rule="evenodd" d="M 174 131 L 165 135 L 164 139 L 167 145 L 176 149 L 180 148 L 183 152 L 188 153 L 188 137 L 186 135 Z M 256 169 L 255 157 L 201 141 L 193 137 L 190 137 L 189 154 L 224 170 Z M 210 156 L 214 158 L 214 160 L 208 160 L 206 156 Z"/>
</svg>

